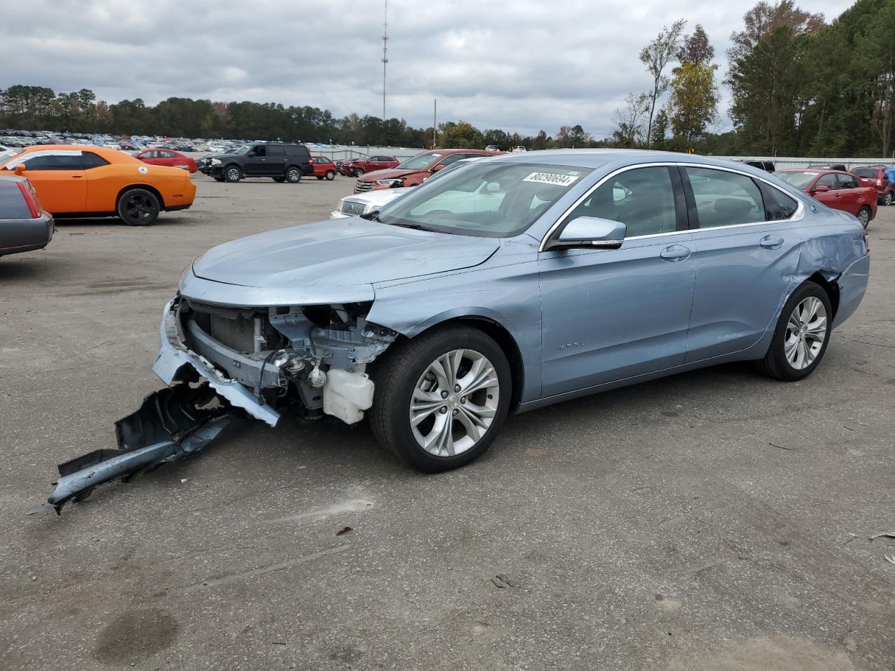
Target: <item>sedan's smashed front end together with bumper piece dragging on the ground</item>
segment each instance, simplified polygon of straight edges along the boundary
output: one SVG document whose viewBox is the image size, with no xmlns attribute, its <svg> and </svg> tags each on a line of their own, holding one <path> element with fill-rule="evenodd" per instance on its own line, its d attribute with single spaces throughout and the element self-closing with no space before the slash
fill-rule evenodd
<svg viewBox="0 0 895 671">
<path fill-rule="evenodd" d="M 242 411 L 270 426 L 286 405 L 305 419 L 362 420 L 373 398 L 364 369 L 397 336 L 366 321 L 370 306 L 230 308 L 176 297 L 152 366 L 168 387 L 115 422 L 118 449 L 59 464 L 53 495 L 29 514 L 59 514 L 104 482 L 197 452 Z"/>
</svg>

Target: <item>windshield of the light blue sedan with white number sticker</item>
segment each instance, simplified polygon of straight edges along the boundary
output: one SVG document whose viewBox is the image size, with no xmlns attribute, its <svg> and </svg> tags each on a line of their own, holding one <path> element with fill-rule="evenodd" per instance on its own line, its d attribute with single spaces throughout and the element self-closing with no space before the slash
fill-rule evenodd
<svg viewBox="0 0 895 671">
<path fill-rule="evenodd" d="M 379 211 L 383 224 L 457 235 L 522 233 L 590 168 L 485 161 L 451 170 Z"/>
</svg>

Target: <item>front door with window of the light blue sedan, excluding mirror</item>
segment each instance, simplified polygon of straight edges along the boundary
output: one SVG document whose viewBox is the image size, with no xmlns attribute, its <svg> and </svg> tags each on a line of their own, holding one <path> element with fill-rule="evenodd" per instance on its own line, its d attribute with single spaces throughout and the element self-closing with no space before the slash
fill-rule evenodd
<svg viewBox="0 0 895 671">
<path fill-rule="evenodd" d="M 684 363 L 695 266 L 672 170 L 619 173 L 566 217 L 623 222 L 620 249 L 541 252 L 542 396 Z"/>
</svg>

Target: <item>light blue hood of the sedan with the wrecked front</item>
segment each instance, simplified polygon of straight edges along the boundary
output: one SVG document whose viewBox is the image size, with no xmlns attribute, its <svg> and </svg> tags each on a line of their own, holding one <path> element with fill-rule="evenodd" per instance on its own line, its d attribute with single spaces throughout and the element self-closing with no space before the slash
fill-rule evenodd
<svg viewBox="0 0 895 671">
<path fill-rule="evenodd" d="M 497 251 L 495 238 L 418 231 L 361 217 L 291 226 L 212 248 L 192 265 L 213 282 L 333 298 L 345 287 L 471 268 Z M 356 299 L 355 299 L 356 300 Z"/>
</svg>

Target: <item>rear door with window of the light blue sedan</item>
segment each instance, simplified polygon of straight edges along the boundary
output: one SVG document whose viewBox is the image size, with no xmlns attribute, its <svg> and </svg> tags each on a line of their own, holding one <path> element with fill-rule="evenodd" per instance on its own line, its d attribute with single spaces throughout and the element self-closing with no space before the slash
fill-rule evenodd
<svg viewBox="0 0 895 671">
<path fill-rule="evenodd" d="M 798 262 L 798 203 L 751 175 L 681 166 L 696 280 L 686 361 L 756 344 L 772 326 Z"/>
</svg>

